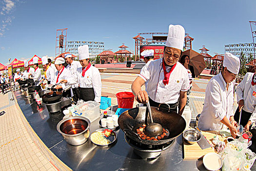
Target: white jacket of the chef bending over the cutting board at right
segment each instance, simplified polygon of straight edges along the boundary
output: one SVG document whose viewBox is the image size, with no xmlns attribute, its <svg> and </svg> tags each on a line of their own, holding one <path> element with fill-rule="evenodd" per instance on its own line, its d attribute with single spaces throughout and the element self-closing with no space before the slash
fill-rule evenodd
<svg viewBox="0 0 256 171">
<path fill-rule="evenodd" d="M 203 110 L 198 121 L 199 129 L 220 130 L 223 128 L 220 121 L 225 116 L 228 119 L 234 116 L 234 83 L 229 83 L 228 90 L 226 90 L 226 85 L 221 73 L 209 81 L 205 90 Z"/>
</svg>

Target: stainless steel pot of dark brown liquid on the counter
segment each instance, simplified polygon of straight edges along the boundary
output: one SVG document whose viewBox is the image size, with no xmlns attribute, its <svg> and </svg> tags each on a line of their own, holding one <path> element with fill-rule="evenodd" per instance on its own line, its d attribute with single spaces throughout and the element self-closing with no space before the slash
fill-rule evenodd
<svg viewBox="0 0 256 171">
<path fill-rule="evenodd" d="M 65 141 L 73 146 L 84 144 L 89 136 L 91 122 L 83 116 L 74 116 L 61 120 L 57 130 L 64 137 Z"/>
</svg>

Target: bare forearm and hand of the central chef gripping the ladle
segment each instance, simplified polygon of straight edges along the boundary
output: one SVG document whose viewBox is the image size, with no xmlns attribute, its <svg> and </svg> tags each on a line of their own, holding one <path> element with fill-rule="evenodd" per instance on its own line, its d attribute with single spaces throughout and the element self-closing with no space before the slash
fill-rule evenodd
<svg viewBox="0 0 256 171">
<path fill-rule="evenodd" d="M 148 102 L 148 93 L 145 90 L 141 90 L 141 86 L 145 81 L 141 77 L 137 77 L 132 84 L 132 91 L 135 95 L 138 103 L 147 103 Z"/>
</svg>

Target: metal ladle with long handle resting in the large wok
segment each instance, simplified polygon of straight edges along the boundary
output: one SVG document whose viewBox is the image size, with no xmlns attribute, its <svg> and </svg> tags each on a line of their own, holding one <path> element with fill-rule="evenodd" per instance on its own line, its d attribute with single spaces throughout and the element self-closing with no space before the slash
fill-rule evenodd
<svg viewBox="0 0 256 171">
<path fill-rule="evenodd" d="M 159 136 L 163 133 L 163 127 L 158 124 L 153 122 L 153 117 L 151 113 L 151 108 L 149 102 L 147 102 L 147 107 L 148 107 L 148 113 L 150 117 L 150 124 L 148 124 L 145 128 L 145 134 L 150 137 L 156 137 Z"/>
</svg>

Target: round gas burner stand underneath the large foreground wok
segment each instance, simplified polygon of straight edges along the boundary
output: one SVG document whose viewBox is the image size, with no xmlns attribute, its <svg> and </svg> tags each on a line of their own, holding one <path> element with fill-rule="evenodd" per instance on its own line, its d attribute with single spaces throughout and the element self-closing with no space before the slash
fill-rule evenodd
<svg viewBox="0 0 256 171">
<path fill-rule="evenodd" d="M 175 140 L 162 145 L 145 145 L 138 143 L 128 136 L 124 135 L 125 141 L 134 149 L 134 152 L 142 159 L 157 158 L 163 150 L 172 146 Z"/>
</svg>

